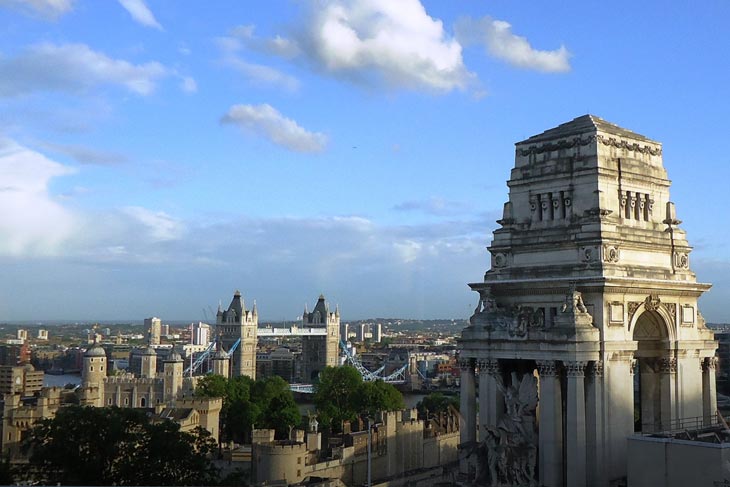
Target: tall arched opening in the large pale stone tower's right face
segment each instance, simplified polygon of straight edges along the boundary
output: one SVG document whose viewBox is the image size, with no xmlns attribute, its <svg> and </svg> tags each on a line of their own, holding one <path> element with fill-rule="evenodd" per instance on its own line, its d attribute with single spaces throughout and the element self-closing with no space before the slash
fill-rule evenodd
<svg viewBox="0 0 730 487">
<path fill-rule="evenodd" d="M 669 328 L 657 311 L 644 311 L 634 325 L 634 431 L 670 428 L 672 421 Z"/>
</svg>

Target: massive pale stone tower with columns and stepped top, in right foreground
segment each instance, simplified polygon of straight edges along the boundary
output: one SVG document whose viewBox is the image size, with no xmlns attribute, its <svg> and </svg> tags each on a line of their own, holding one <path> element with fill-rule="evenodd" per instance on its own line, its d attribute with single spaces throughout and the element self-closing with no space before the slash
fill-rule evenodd
<svg viewBox="0 0 730 487">
<path fill-rule="evenodd" d="M 507 185 L 460 339 L 462 443 L 522 452 L 507 455 L 521 469 L 482 463 L 477 482 L 609 485 L 634 431 L 713 420 L 716 342 L 697 308 L 710 286 L 690 270 L 658 142 L 582 116 L 517 143 Z"/>
</svg>

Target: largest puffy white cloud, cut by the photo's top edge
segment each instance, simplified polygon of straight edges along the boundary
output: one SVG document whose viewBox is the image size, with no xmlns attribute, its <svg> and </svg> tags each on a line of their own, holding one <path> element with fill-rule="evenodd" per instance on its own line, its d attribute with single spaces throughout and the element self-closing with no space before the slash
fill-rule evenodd
<svg viewBox="0 0 730 487">
<path fill-rule="evenodd" d="M 461 45 L 418 0 L 329 0 L 312 8 L 302 49 L 336 76 L 448 92 L 475 78 Z"/>
</svg>

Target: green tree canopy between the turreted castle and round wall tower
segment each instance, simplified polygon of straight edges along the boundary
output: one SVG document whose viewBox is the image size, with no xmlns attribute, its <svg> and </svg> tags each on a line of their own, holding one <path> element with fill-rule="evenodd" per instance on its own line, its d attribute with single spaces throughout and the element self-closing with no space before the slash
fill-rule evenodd
<svg viewBox="0 0 730 487">
<path fill-rule="evenodd" d="M 289 428 L 301 422 L 289 384 L 278 376 L 254 381 L 210 374 L 198 381 L 195 395 L 223 398 L 221 431 L 227 440 L 243 443 L 254 426 L 274 429 L 277 438 L 287 438 Z"/>
</svg>

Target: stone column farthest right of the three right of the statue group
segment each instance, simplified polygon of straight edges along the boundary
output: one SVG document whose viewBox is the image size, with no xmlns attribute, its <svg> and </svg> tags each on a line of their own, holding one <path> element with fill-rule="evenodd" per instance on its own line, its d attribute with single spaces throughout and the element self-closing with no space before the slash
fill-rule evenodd
<svg viewBox="0 0 730 487">
<path fill-rule="evenodd" d="M 586 370 L 586 484 L 608 485 L 604 469 L 603 361 Z"/>
</svg>

